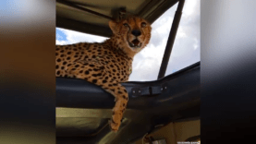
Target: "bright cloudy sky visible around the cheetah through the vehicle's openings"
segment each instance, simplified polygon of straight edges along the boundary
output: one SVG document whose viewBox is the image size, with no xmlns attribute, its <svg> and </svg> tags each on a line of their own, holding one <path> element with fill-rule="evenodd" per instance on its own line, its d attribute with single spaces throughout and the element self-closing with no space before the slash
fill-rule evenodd
<svg viewBox="0 0 256 144">
<path fill-rule="evenodd" d="M 151 81 L 158 77 L 177 4 L 152 23 L 149 44 L 136 54 L 128 81 Z M 104 42 L 108 38 L 56 28 L 56 44 Z M 165 76 L 200 61 L 200 0 L 185 1 Z"/>
</svg>

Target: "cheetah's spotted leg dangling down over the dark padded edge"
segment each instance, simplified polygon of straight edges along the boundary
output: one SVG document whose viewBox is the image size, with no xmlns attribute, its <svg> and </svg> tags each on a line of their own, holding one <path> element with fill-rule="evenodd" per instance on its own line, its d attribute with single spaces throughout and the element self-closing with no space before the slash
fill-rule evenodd
<svg viewBox="0 0 256 144">
<path fill-rule="evenodd" d="M 76 76 L 76 78 L 85 79 L 101 86 L 104 90 L 114 95 L 116 105 L 113 109 L 110 126 L 111 130 L 116 132 L 121 125 L 121 120 L 128 103 L 128 91 L 126 88 L 110 78 L 110 75 L 104 71 L 103 66 L 97 66 L 95 63 L 76 62 L 69 66 L 67 72 L 69 75 Z"/>
</svg>

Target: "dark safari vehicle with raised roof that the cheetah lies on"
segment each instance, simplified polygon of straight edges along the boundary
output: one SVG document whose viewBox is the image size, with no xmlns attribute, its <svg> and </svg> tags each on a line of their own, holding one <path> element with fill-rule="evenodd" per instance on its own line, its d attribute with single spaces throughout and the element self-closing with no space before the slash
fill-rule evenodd
<svg viewBox="0 0 256 144">
<path fill-rule="evenodd" d="M 108 127 L 115 105 L 111 94 L 85 80 L 56 78 L 57 144 L 160 143 L 158 138 L 177 144 L 200 139 L 200 62 L 165 76 L 184 0 L 56 0 L 56 27 L 110 37 L 110 19 L 132 14 L 152 23 L 177 3 L 158 79 L 122 83 L 129 101 L 117 133 Z"/>
</svg>

